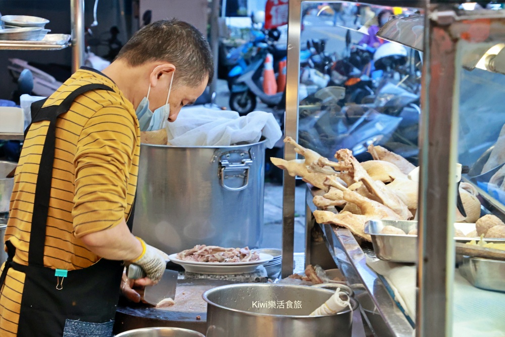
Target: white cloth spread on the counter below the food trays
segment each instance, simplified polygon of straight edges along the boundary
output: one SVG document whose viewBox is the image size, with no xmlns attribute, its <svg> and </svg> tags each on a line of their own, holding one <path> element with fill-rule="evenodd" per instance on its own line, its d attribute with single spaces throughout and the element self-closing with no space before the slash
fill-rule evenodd
<svg viewBox="0 0 505 337">
<path fill-rule="evenodd" d="M 386 278 L 395 300 L 415 321 L 416 266 L 372 261 L 367 264 Z M 502 337 L 505 335 L 505 294 L 479 289 L 470 284 L 459 270 L 454 277 L 452 335 Z"/>
</svg>

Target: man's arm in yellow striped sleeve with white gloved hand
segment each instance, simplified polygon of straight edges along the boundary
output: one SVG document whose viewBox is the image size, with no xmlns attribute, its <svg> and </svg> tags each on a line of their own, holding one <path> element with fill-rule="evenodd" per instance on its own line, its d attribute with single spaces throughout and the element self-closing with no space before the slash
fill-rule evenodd
<svg viewBox="0 0 505 337">
<path fill-rule="evenodd" d="M 125 222 L 137 128 L 123 107 L 98 110 L 84 125 L 74 159 L 74 235 L 96 255 L 138 264 L 159 281 L 166 254 L 135 238 Z"/>
</svg>

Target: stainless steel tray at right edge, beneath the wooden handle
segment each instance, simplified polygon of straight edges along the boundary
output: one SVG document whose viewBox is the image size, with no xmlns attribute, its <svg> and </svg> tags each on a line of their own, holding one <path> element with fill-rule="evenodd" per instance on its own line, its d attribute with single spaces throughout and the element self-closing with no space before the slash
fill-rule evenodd
<svg viewBox="0 0 505 337">
<path fill-rule="evenodd" d="M 474 286 L 505 292 L 505 262 L 464 256 L 459 269 Z"/>
</svg>

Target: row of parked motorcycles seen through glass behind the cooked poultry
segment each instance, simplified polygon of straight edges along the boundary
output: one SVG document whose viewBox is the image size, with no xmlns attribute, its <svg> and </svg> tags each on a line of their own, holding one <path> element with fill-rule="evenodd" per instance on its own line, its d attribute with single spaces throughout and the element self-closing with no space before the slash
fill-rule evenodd
<svg viewBox="0 0 505 337">
<path fill-rule="evenodd" d="M 368 160 L 373 143 L 417 163 L 422 56 L 395 43 L 346 49 L 329 86 L 300 102 L 300 144 L 330 158 L 351 149 Z"/>
</svg>

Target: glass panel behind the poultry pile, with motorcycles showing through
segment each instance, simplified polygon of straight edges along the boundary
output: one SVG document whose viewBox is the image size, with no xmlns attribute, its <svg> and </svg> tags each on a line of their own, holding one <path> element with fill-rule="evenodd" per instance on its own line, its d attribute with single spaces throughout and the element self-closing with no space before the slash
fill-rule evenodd
<svg viewBox="0 0 505 337">
<path fill-rule="evenodd" d="M 381 145 L 417 165 L 421 53 L 375 34 L 414 9 L 302 3 L 300 145 L 327 158 L 350 149 L 360 161 Z"/>
</svg>

